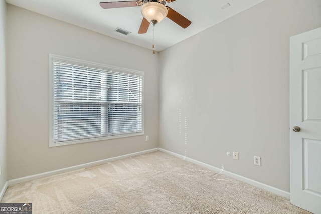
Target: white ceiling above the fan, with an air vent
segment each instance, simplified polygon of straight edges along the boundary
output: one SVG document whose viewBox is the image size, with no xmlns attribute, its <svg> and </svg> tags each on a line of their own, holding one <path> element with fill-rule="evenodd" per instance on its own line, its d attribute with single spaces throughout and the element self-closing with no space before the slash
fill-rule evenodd
<svg viewBox="0 0 321 214">
<path fill-rule="evenodd" d="M 151 49 L 152 25 L 146 34 L 138 34 L 142 20 L 140 7 L 102 9 L 99 2 L 116 0 L 7 0 L 8 3 L 129 43 Z M 176 0 L 166 5 L 192 21 L 183 29 L 165 18 L 155 25 L 155 50 L 162 51 L 264 0 Z M 222 10 L 229 3 L 231 6 Z M 119 27 L 132 32 L 115 32 Z"/>
</svg>

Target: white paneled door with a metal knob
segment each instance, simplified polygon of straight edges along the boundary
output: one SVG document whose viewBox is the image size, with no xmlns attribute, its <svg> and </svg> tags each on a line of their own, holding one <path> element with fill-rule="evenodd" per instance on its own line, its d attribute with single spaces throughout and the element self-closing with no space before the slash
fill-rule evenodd
<svg viewBox="0 0 321 214">
<path fill-rule="evenodd" d="M 321 28 L 290 38 L 290 126 L 291 203 L 321 213 Z"/>
</svg>

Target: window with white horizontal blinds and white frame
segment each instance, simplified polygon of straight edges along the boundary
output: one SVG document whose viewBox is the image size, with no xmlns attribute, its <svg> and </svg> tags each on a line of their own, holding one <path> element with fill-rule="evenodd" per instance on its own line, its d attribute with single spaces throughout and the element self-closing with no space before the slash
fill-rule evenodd
<svg viewBox="0 0 321 214">
<path fill-rule="evenodd" d="M 50 73 L 50 146 L 143 134 L 143 72 L 50 55 Z"/>
</svg>

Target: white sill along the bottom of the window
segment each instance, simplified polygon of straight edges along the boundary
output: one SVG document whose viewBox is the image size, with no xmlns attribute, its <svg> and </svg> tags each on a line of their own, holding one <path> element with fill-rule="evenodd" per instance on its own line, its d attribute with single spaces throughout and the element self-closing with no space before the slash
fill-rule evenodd
<svg viewBox="0 0 321 214">
<path fill-rule="evenodd" d="M 142 131 L 138 133 L 121 134 L 121 135 L 114 135 L 114 136 L 108 136 L 108 137 L 96 137 L 96 138 L 88 138 L 88 139 L 82 139 L 82 140 L 70 140 L 70 141 L 57 142 L 57 143 L 54 143 L 53 140 L 51 139 L 49 142 L 49 147 L 65 146 L 65 145 L 72 145 L 72 144 L 79 144 L 79 143 L 89 143 L 89 142 L 95 142 L 95 141 L 111 140 L 111 139 L 124 138 L 124 137 L 134 137 L 134 136 L 140 136 L 140 135 L 144 135 L 144 132 Z"/>
</svg>

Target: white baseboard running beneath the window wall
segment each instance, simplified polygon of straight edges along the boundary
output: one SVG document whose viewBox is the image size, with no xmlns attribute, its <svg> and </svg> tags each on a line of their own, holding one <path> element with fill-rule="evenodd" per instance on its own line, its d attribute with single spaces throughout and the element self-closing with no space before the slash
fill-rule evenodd
<svg viewBox="0 0 321 214">
<path fill-rule="evenodd" d="M 112 162 L 112 161 L 116 161 L 116 160 L 120 160 L 120 159 L 124 159 L 124 158 L 128 158 L 128 157 L 147 154 L 147 153 L 155 152 L 155 151 L 158 151 L 158 148 L 149 149 L 149 150 L 140 151 L 140 152 L 135 152 L 135 153 L 131 153 L 131 154 L 125 154 L 125 155 L 121 155 L 121 156 L 117 156 L 117 157 L 107 158 L 107 159 L 104 159 L 104 160 L 98 160 L 98 161 L 94 161 L 94 162 L 90 162 L 90 163 L 71 166 L 71 167 L 67 167 L 67 168 L 63 168 L 63 169 L 58 169 L 58 170 L 54 170 L 54 171 L 49 171 L 49 172 L 44 172 L 44 173 L 40 173 L 40 174 L 30 175 L 30 176 L 26 176 L 26 177 L 17 178 L 17 179 L 12 179 L 12 180 L 8 180 L 8 186 L 11 186 L 11 185 L 14 185 L 14 184 L 18 184 L 18 183 L 27 182 L 27 181 L 31 181 L 31 180 L 35 180 L 35 179 L 38 179 L 38 178 L 48 177 L 48 176 L 55 175 L 55 174 L 60 174 L 60 173 L 63 173 L 63 172 L 69 172 L 69 171 L 82 169 L 82 168 L 86 168 L 86 167 L 90 167 L 90 166 L 96 166 L 96 165 L 100 165 L 100 164 L 103 164 L 103 163 L 108 163 L 108 162 Z"/>
</svg>

